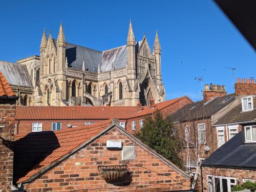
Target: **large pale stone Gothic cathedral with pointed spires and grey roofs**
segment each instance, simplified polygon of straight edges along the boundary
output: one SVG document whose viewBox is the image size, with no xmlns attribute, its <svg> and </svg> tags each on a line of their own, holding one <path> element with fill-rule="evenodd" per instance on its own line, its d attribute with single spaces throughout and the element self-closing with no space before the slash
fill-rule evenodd
<svg viewBox="0 0 256 192">
<path fill-rule="evenodd" d="M 16 63 L 0 61 L 0 70 L 28 106 L 142 106 L 165 100 L 161 46 L 153 52 L 146 36 L 135 41 L 130 20 L 125 45 L 106 51 L 66 42 L 60 23 L 57 39 L 42 34 L 40 56 Z"/>
</svg>

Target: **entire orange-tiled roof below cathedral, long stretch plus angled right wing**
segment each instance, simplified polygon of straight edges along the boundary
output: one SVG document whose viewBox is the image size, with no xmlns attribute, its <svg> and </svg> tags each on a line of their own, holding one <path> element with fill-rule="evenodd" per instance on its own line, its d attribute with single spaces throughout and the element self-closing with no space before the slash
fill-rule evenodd
<svg viewBox="0 0 256 192">
<path fill-rule="evenodd" d="M 53 107 L 53 106 L 18 106 L 16 107 L 17 120 L 29 119 L 127 119 L 154 113 L 176 102 L 184 100 L 190 103 L 187 97 L 154 104 L 153 106 L 141 107 L 115 107 L 115 106 L 92 106 L 92 107 Z M 175 112 L 169 109 L 169 112 Z"/>
</svg>

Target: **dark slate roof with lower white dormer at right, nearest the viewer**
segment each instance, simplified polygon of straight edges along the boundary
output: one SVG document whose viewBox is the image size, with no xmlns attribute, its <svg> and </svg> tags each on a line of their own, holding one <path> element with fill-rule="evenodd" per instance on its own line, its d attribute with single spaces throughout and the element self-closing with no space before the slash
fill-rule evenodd
<svg viewBox="0 0 256 192">
<path fill-rule="evenodd" d="M 242 167 L 256 170 L 256 143 L 243 143 L 243 131 L 206 158 L 202 166 Z"/>
</svg>

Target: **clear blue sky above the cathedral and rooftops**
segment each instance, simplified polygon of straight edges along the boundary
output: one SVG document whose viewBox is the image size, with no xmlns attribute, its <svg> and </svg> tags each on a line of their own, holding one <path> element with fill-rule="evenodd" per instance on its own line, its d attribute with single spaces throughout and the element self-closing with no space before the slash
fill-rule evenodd
<svg viewBox="0 0 256 192">
<path fill-rule="evenodd" d="M 166 99 L 202 99 L 201 84 L 226 85 L 254 77 L 256 54 L 214 1 L 1 1 L 0 60 L 39 55 L 42 31 L 57 38 L 63 22 L 66 41 L 107 50 L 126 43 L 129 19 L 136 40 L 143 32 L 153 47 L 158 30 Z"/>
</svg>

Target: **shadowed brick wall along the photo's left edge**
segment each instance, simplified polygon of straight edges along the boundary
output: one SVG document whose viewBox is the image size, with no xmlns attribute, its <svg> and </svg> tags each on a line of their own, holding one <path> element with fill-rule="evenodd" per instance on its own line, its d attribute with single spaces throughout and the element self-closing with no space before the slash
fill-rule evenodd
<svg viewBox="0 0 256 192">
<path fill-rule="evenodd" d="M 13 174 L 15 101 L 0 104 L 0 191 L 10 191 Z"/>
</svg>

